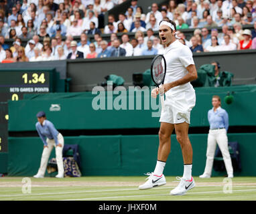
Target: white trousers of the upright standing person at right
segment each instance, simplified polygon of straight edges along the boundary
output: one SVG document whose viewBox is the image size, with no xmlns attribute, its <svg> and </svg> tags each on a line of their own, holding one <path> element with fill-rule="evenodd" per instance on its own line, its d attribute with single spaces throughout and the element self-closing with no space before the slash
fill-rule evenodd
<svg viewBox="0 0 256 214">
<path fill-rule="evenodd" d="M 206 166 L 204 169 L 204 174 L 212 174 L 212 165 L 214 161 L 216 144 L 218 144 L 218 147 L 220 148 L 220 152 L 225 163 L 227 174 L 233 175 L 231 155 L 229 154 L 227 130 L 225 128 L 209 130 L 206 151 Z"/>
</svg>

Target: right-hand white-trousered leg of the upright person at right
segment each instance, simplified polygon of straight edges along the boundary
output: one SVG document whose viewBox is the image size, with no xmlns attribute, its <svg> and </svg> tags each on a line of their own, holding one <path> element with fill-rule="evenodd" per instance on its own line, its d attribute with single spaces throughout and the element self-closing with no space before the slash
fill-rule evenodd
<svg viewBox="0 0 256 214">
<path fill-rule="evenodd" d="M 233 166 L 231 161 L 231 155 L 229 154 L 229 145 L 228 145 L 228 138 L 227 138 L 227 131 L 226 129 L 220 129 L 218 131 L 218 136 L 216 138 L 218 147 L 220 148 L 220 152 L 222 154 L 225 167 L 228 173 L 229 178 L 233 178 Z"/>
</svg>

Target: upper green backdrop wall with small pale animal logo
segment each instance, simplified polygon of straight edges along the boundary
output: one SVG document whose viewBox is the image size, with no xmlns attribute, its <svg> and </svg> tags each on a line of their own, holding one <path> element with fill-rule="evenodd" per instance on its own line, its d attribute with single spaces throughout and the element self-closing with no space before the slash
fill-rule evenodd
<svg viewBox="0 0 256 214">
<path fill-rule="evenodd" d="M 233 92 L 234 101 L 232 104 L 224 102 L 228 92 Z M 135 94 L 136 99 L 142 101 L 142 110 L 129 109 L 129 92 L 123 95 L 113 95 L 116 98 L 125 97 L 127 110 L 107 110 L 107 100 L 112 99 L 107 96 L 105 100 L 105 110 L 95 110 L 92 102 L 97 94 L 91 92 L 76 93 L 52 93 L 24 96 L 23 100 L 9 101 L 9 131 L 30 131 L 36 130 L 36 113 L 44 110 L 46 116 L 59 130 L 99 130 L 111 128 L 158 128 L 159 117 L 152 117 L 150 92 L 147 90 L 141 94 Z M 230 126 L 255 126 L 256 125 L 256 85 L 230 86 L 220 88 L 196 88 L 196 106 L 191 113 L 191 127 L 208 126 L 207 112 L 212 108 L 211 99 L 213 95 L 219 95 L 222 99 L 222 108 L 229 113 Z M 103 98 L 105 95 L 103 94 Z M 132 100 L 131 99 L 131 100 Z M 144 100 L 147 100 L 149 108 L 144 108 Z M 111 104 L 113 101 L 111 100 Z M 51 111 L 52 105 L 60 106 L 58 111 Z"/>
</svg>

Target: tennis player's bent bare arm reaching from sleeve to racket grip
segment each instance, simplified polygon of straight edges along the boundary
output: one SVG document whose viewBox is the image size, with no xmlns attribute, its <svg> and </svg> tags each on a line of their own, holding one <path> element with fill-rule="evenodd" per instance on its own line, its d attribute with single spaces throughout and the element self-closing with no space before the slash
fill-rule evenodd
<svg viewBox="0 0 256 214">
<path fill-rule="evenodd" d="M 180 80 L 176 80 L 174 82 L 166 83 L 162 86 L 164 86 L 164 93 L 166 93 L 171 88 L 174 88 L 176 86 L 181 86 L 183 84 L 186 84 L 188 82 L 191 82 L 193 80 L 197 79 L 197 72 L 196 72 L 196 66 L 194 64 L 190 64 L 188 67 L 186 67 L 186 70 L 188 70 L 188 74 L 181 78 Z M 162 88 L 162 87 L 160 87 Z M 161 93 L 161 90 L 159 89 L 159 92 Z"/>
</svg>

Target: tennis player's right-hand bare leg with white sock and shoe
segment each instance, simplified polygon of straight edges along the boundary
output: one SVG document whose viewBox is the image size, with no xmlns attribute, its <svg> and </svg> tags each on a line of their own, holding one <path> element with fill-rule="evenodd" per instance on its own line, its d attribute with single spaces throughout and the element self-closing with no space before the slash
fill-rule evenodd
<svg viewBox="0 0 256 214">
<path fill-rule="evenodd" d="M 184 161 L 184 173 L 182 178 L 180 178 L 180 183 L 178 187 L 173 189 L 170 194 L 172 195 L 184 195 L 186 191 L 192 189 L 195 186 L 194 179 L 192 177 L 192 158 L 193 150 L 188 138 L 188 127 L 189 124 L 182 122 L 180 124 L 174 124 L 176 138 L 180 143 L 182 149 L 182 156 Z"/>
</svg>

